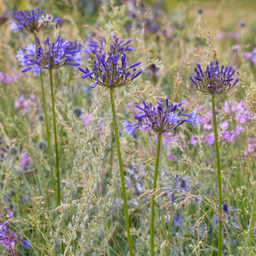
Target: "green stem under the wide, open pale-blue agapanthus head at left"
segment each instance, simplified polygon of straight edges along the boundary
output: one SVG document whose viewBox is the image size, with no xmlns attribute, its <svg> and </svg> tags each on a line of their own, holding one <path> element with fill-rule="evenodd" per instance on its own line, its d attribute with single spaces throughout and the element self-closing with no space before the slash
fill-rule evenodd
<svg viewBox="0 0 256 256">
<path fill-rule="evenodd" d="M 50 83 L 51 83 L 51 94 L 52 94 L 52 116 L 53 116 L 53 129 L 54 129 L 54 141 L 55 141 L 55 155 L 56 155 L 56 177 L 57 177 L 57 195 L 58 195 L 58 205 L 60 205 L 60 172 L 59 167 L 59 152 L 57 143 L 57 131 L 56 131 L 56 118 L 55 118 L 55 107 L 54 107 L 54 92 L 52 83 L 52 69 L 49 68 L 50 73 Z"/>
</svg>

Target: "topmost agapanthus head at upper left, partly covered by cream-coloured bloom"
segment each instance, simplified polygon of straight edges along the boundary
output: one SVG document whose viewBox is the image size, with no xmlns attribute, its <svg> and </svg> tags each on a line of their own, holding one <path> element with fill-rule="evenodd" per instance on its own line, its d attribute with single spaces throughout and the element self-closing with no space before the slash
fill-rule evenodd
<svg viewBox="0 0 256 256">
<path fill-rule="evenodd" d="M 18 29 L 24 33 L 34 33 L 46 28 L 52 22 L 60 20 L 60 18 L 53 18 L 51 14 L 43 15 L 43 11 L 40 11 L 39 7 L 36 8 L 36 11 L 20 11 L 19 14 L 14 15 L 14 18 L 17 20 L 16 22 L 9 22 L 13 33 L 16 33 Z"/>
</svg>

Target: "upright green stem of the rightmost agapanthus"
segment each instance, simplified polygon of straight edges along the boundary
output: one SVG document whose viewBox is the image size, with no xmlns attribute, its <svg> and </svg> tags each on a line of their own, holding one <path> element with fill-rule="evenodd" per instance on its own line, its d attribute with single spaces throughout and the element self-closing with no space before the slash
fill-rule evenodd
<svg viewBox="0 0 256 256">
<path fill-rule="evenodd" d="M 215 151 L 216 151 L 217 172 L 218 172 L 218 187 L 219 187 L 219 213 L 220 213 L 220 216 L 219 216 L 219 235 L 218 235 L 218 256 L 221 256 L 221 250 L 222 250 L 222 244 L 221 244 L 222 243 L 222 237 L 221 237 L 221 231 L 222 231 L 221 174 L 220 174 L 220 151 L 219 151 L 219 144 L 218 144 L 214 94 L 212 94 L 212 119 L 213 119 L 213 130 L 214 130 Z"/>
</svg>

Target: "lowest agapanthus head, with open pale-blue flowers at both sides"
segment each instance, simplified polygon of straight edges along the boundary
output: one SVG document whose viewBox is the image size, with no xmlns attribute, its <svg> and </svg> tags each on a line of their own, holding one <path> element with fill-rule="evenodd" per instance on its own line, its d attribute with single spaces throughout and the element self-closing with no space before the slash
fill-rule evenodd
<svg viewBox="0 0 256 256">
<path fill-rule="evenodd" d="M 180 124 L 188 122 L 194 125 L 195 122 L 197 122 L 196 109 L 191 113 L 185 114 L 183 113 L 184 108 L 178 110 L 182 103 L 169 104 L 168 98 L 166 98 L 165 102 L 165 108 L 162 104 L 162 100 L 157 100 L 156 107 L 153 107 L 152 103 L 147 105 L 144 100 L 142 100 L 141 106 L 135 105 L 135 107 L 138 108 L 141 112 L 139 115 L 133 115 L 137 123 L 130 124 L 127 120 L 124 120 L 123 123 L 125 127 L 124 131 L 128 132 L 128 136 L 132 135 L 132 133 L 139 127 L 142 127 L 143 129 L 147 129 L 149 131 L 174 136 L 176 133 L 176 129 Z M 183 119 L 183 116 L 186 116 L 188 118 Z M 172 134 L 170 135 L 169 132 L 172 132 Z"/>
</svg>

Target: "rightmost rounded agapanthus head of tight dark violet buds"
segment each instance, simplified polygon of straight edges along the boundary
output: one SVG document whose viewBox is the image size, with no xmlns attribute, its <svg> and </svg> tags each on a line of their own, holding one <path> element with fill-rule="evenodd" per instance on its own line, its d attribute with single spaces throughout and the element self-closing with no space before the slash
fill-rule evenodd
<svg viewBox="0 0 256 256">
<path fill-rule="evenodd" d="M 231 81 L 234 80 L 233 75 L 236 69 L 232 71 L 232 66 L 224 69 L 223 65 L 220 68 L 218 60 L 216 60 L 215 64 L 216 66 L 213 67 L 211 62 L 210 67 L 207 65 L 206 70 L 203 71 L 200 64 L 196 63 L 198 69 L 195 68 L 195 80 L 189 76 L 198 91 L 204 94 L 213 94 L 214 97 L 221 93 L 227 93 L 239 80 L 239 78 L 236 78 L 234 84 L 231 84 Z"/>
</svg>

